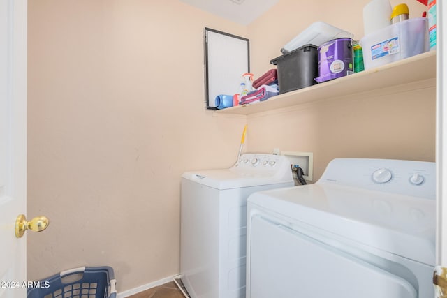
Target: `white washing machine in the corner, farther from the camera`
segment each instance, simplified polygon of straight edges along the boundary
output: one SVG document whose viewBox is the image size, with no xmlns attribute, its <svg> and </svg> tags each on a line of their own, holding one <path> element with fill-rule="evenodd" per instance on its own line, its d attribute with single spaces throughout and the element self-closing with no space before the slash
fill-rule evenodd
<svg viewBox="0 0 447 298">
<path fill-rule="evenodd" d="M 293 185 L 288 159 L 273 154 L 182 175 L 180 274 L 191 297 L 245 297 L 247 198 Z"/>
</svg>

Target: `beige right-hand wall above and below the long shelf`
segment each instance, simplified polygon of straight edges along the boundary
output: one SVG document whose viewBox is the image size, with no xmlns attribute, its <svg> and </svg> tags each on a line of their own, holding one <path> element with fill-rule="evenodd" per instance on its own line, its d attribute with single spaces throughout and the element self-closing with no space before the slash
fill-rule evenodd
<svg viewBox="0 0 447 298">
<path fill-rule="evenodd" d="M 363 37 L 362 1 L 281 0 L 249 25 L 251 65 L 255 77 L 273 68 L 270 59 L 302 30 L 317 21 Z M 390 1 L 392 5 L 399 1 Z M 410 17 L 425 6 L 409 2 Z M 267 41 L 268 40 L 268 41 Z M 332 158 L 397 158 L 434 161 L 435 82 L 331 98 L 323 103 L 249 116 L 251 150 L 314 153 L 314 181 Z"/>
</svg>

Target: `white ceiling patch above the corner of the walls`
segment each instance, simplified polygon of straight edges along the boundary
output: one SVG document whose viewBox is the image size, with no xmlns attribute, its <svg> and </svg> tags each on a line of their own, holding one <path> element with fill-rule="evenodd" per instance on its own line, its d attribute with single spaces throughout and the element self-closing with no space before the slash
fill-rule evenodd
<svg viewBox="0 0 447 298">
<path fill-rule="evenodd" d="M 219 15 L 227 20 L 248 25 L 269 10 L 279 0 L 180 0 Z"/>
</svg>

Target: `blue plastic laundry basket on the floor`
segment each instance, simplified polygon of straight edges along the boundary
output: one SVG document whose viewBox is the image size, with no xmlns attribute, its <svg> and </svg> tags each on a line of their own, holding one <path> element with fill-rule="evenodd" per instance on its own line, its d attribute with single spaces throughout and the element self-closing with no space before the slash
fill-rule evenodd
<svg viewBox="0 0 447 298">
<path fill-rule="evenodd" d="M 115 298 L 115 283 L 112 267 L 80 267 L 38 281 L 27 298 Z"/>
</svg>

